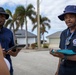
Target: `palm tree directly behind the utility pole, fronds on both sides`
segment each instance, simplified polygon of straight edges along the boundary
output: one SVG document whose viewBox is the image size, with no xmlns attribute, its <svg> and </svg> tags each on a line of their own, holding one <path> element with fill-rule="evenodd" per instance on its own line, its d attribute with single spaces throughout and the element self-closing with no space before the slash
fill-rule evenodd
<svg viewBox="0 0 76 75">
<path fill-rule="evenodd" d="M 37 17 L 34 19 L 34 26 L 32 28 L 32 31 L 34 31 L 37 28 Z M 46 30 L 46 27 L 49 29 L 51 28 L 50 26 L 50 20 L 47 17 L 42 17 L 40 15 L 40 34 L 43 35 L 43 42 L 44 42 L 44 33 L 48 31 Z"/>
</svg>

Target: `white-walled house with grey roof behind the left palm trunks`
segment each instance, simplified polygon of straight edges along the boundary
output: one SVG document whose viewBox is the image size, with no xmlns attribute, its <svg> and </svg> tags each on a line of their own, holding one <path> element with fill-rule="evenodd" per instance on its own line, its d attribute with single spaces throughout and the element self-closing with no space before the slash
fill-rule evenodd
<svg viewBox="0 0 76 75">
<path fill-rule="evenodd" d="M 28 44 L 36 43 L 37 36 L 31 32 L 28 32 Z M 16 40 L 18 44 L 26 44 L 25 30 L 18 30 L 15 32 Z"/>
</svg>

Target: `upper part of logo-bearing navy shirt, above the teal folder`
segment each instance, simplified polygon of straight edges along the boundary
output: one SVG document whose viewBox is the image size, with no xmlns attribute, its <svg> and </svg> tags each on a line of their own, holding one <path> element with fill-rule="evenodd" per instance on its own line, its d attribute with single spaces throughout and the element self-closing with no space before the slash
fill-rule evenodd
<svg viewBox="0 0 76 75">
<path fill-rule="evenodd" d="M 71 35 L 70 32 L 67 35 L 67 31 L 68 31 L 68 29 L 64 30 L 61 33 L 61 36 L 60 36 L 60 46 L 59 46 L 61 49 L 65 49 L 66 39 Z M 67 49 L 71 49 L 74 52 L 76 52 L 76 31 L 74 32 L 73 36 L 71 37 L 70 44 L 67 46 Z"/>
</svg>

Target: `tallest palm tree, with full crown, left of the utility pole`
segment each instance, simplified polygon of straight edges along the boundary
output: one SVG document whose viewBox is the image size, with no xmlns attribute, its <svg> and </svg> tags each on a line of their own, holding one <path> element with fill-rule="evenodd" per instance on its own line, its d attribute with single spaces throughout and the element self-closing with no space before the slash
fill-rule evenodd
<svg viewBox="0 0 76 75">
<path fill-rule="evenodd" d="M 16 8 L 16 13 L 19 18 L 20 25 L 23 26 L 25 22 L 25 29 L 26 29 L 26 48 L 28 48 L 28 34 L 27 34 L 27 17 L 33 22 L 34 15 L 36 12 L 34 11 L 34 6 L 29 4 L 26 8 L 22 5 Z"/>
</svg>

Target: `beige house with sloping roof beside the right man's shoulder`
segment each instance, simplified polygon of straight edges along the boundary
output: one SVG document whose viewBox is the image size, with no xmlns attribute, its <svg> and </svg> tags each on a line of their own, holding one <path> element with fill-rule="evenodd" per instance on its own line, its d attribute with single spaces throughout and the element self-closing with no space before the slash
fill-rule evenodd
<svg viewBox="0 0 76 75">
<path fill-rule="evenodd" d="M 60 34 L 61 31 L 48 35 L 46 38 L 48 39 L 49 47 L 50 48 L 58 48 L 60 42 Z"/>
</svg>

